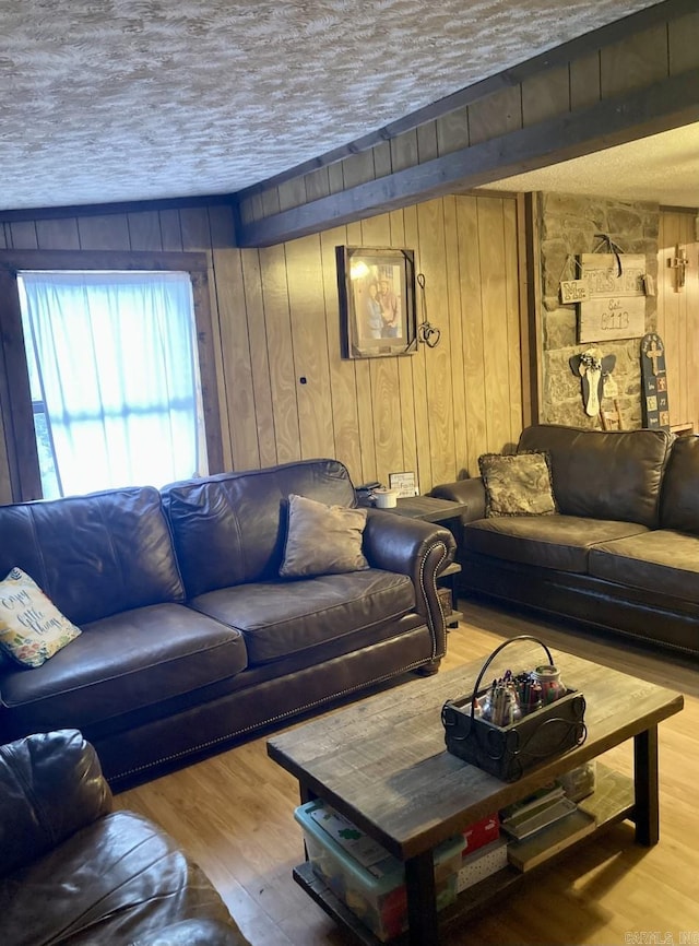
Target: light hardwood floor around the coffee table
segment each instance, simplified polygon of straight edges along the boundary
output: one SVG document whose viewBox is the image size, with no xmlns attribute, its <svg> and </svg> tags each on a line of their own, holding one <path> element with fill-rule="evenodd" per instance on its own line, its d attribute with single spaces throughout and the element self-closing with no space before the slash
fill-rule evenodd
<svg viewBox="0 0 699 946">
<path fill-rule="evenodd" d="M 462 601 L 442 666 L 486 658 L 502 639 L 534 634 L 567 650 L 685 694 L 660 725 L 661 842 L 633 844 L 621 824 L 542 868 L 517 894 L 446 946 L 621 946 L 699 943 L 699 664 Z M 464 679 L 464 690 L 472 681 Z M 394 688 L 400 699 L 403 686 Z M 457 696 L 457 694 L 454 694 Z M 630 745 L 604 761 L 631 774 Z M 335 924 L 292 879 L 303 859 L 293 819 L 297 784 L 259 738 L 116 799 L 171 833 L 221 891 L 252 946 L 346 946 Z"/>
</svg>

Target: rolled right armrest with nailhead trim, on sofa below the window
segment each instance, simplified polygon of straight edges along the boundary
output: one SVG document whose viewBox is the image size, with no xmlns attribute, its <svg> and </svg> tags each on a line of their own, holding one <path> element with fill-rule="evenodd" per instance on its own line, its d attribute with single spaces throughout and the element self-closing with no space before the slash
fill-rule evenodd
<svg viewBox="0 0 699 946">
<path fill-rule="evenodd" d="M 446 649 L 446 625 L 437 576 L 453 561 L 457 541 L 448 529 L 395 512 L 369 509 L 364 530 L 364 554 L 370 566 L 408 575 L 415 587 L 415 610 L 435 639 L 435 654 Z"/>
</svg>

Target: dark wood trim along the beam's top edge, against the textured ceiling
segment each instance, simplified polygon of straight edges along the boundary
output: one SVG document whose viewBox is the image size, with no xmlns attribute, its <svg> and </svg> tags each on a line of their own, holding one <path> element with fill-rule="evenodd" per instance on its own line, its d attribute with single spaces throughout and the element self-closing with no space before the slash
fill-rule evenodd
<svg viewBox="0 0 699 946">
<path fill-rule="evenodd" d="M 318 170 L 320 167 L 327 167 L 330 164 L 335 164 L 345 157 L 350 157 L 352 154 L 368 151 L 370 147 L 376 147 L 376 145 L 384 141 L 390 141 L 405 131 L 411 131 L 420 125 L 441 118 L 450 111 L 463 108 L 464 105 L 471 105 L 479 98 L 485 98 L 486 95 L 491 95 L 494 92 L 518 85 L 531 75 L 536 75 L 548 69 L 555 69 L 558 66 L 565 66 L 573 59 L 587 56 L 605 46 L 611 46 L 613 43 L 626 39 L 657 23 L 676 20 L 687 13 L 695 13 L 696 10 L 696 0 L 665 0 L 663 3 L 647 7 L 644 10 L 639 10 L 637 13 L 631 13 L 621 20 L 616 20 L 614 23 L 601 26 L 599 29 L 585 33 L 574 39 L 569 39 L 567 43 L 562 43 L 560 46 L 556 46 L 531 59 L 526 59 L 511 69 L 505 69 L 481 82 L 466 85 L 451 95 L 447 95 L 423 108 L 411 111 L 403 118 L 389 122 L 382 128 L 360 138 L 356 138 L 347 142 L 347 144 L 327 151 L 318 157 L 301 162 L 288 168 L 288 170 L 266 178 L 266 180 L 250 185 L 250 187 L 238 191 L 235 197 L 238 201 L 245 200 L 254 193 L 279 187 L 280 184 L 284 184 L 284 181 L 292 178 L 300 177 L 312 170 Z"/>
</svg>

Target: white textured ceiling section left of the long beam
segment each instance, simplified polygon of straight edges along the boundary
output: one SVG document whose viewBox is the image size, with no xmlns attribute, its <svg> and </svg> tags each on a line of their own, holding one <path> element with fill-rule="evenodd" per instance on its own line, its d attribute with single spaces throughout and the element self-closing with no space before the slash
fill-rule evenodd
<svg viewBox="0 0 699 946">
<path fill-rule="evenodd" d="M 652 0 L 0 0 L 0 210 L 228 193 Z"/>
</svg>

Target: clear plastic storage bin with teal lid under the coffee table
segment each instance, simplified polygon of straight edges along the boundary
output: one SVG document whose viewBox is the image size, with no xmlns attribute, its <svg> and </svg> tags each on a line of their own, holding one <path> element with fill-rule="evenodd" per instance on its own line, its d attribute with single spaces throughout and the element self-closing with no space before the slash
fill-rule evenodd
<svg viewBox="0 0 699 946">
<path fill-rule="evenodd" d="M 381 942 L 407 930 L 405 868 L 401 861 L 320 800 L 296 808 L 313 872 Z M 437 909 L 452 903 L 463 836 L 435 850 Z"/>
</svg>

